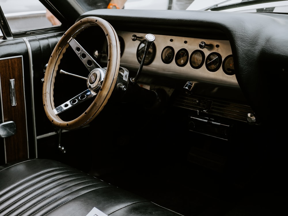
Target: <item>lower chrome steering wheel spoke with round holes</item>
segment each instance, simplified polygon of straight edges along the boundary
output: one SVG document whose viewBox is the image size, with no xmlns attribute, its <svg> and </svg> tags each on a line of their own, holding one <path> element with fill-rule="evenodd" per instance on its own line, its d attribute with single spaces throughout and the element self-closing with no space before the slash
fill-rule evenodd
<svg viewBox="0 0 288 216">
<path fill-rule="evenodd" d="M 67 102 L 61 104 L 60 106 L 56 107 L 55 109 L 53 109 L 55 115 L 60 114 L 61 112 L 64 112 L 78 104 L 81 104 L 82 102 L 93 98 L 94 96 L 96 96 L 97 93 L 94 91 L 90 91 L 89 89 L 87 89 L 86 91 L 83 91 L 82 93 L 80 93 L 79 95 L 75 96 L 74 98 L 68 100 Z"/>
</svg>

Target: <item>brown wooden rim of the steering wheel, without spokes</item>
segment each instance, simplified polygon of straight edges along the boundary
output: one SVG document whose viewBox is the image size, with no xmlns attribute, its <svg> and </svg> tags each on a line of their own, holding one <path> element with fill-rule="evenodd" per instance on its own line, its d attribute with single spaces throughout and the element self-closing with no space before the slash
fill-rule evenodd
<svg viewBox="0 0 288 216">
<path fill-rule="evenodd" d="M 54 106 L 54 82 L 58 71 L 58 66 L 60 64 L 63 55 L 69 47 L 68 41 L 71 37 L 75 38 L 82 30 L 89 28 L 91 26 L 99 26 L 106 35 L 108 43 L 108 62 L 107 70 L 104 77 L 104 81 L 101 86 L 101 90 L 98 95 L 96 95 L 92 104 L 87 108 L 87 110 L 82 113 L 79 117 L 71 121 L 63 121 L 58 115 L 53 111 Z M 99 17 L 87 17 L 83 18 L 71 26 L 66 33 L 58 41 L 56 47 L 54 48 L 48 66 L 46 68 L 46 73 L 43 83 L 43 107 L 45 113 L 50 120 L 50 122 L 60 129 L 73 130 L 92 121 L 103 109 L 107 103 L 111 93 L 115 87 L 117 76 L 120 66 L 120 44 L 117 33 L 114 28 L 105 20 Z"/>
</svg>

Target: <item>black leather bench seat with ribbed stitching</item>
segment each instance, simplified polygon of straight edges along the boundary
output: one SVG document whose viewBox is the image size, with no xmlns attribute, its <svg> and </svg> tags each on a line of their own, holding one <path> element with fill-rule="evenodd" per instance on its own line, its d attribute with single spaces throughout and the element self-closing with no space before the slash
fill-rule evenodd
<svg viewBox="0 0 288 216">
<path fill-rule="evenodd" d="M 0 167 L 0 215 L 179 214 L 53 160 Z"/>
</svg>

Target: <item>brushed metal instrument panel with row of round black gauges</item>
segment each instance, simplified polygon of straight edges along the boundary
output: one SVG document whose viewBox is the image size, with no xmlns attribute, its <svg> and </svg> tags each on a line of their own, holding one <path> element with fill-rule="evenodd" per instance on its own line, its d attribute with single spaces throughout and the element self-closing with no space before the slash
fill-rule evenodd
<svg viewBox="0 0 288 216">
<path fill-rule="evenodd" d="M 139 68 L 145 35 L 118 31 L 120 65 Z M 229 41 L 155 35 L 145 58 L 143 72 L 179 79 L 236 86 L 234 61 Z"/>
</svg>

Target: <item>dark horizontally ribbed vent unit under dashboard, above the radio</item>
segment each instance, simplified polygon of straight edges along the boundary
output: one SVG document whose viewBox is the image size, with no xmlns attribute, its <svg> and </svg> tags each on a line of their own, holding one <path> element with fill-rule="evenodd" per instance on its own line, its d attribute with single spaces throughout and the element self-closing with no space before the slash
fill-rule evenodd
<svg viewBox="0 0 288 216">
<path fill-rule="evenodd" d="M 237 121 L 247 122 L 247 114 L 252 113 L 250 106 L 199 95 L 180 93 L 175 96 L 173 106 Z"/>
</svg>

